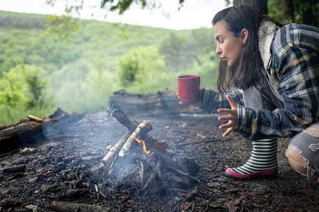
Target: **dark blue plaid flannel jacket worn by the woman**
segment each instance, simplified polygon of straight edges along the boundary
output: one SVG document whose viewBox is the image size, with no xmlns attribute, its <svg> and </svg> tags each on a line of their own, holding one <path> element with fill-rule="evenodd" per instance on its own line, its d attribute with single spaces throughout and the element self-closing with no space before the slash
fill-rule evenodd
<svg viewBox="0 0 319 212">
<path fill-rule="evenodd" d="M 285 25 L 275 33 L 270 53 L 270 63 L 264 64 L 264 71 L 284 109 L 246 108 L 239 89 L 226 92 L 237 104 L 234 131 L 247 140 L 291 138 L 319 121 L 319 29 Z M 210 113 L 230 108 L 226 94 L 221 97 L 212 89 L 202 88 L 200 108 Z"/>
</svg>

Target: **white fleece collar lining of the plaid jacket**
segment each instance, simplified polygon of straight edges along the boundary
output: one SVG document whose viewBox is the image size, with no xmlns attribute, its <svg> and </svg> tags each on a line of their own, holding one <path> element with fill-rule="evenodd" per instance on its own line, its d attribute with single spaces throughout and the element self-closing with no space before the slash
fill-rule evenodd
<svg viewBox="0 0 319 212">
<path fill-rule="evenodd" d="M 278 29 L 279 27 L 274 22 L 267 20 L 261 20 L 258 28 L 258 49 L 265 70 L 270 67 L 272 58 L 271 45 Z"/>
</svg>

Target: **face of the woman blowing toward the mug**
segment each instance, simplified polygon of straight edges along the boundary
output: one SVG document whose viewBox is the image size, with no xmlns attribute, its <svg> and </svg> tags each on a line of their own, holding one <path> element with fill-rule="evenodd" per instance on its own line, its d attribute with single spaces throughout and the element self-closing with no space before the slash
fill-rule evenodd
<svg viewBox="0 0 319 212">
<path fill-rule="evenodd" d="M 215 40 L 217 41 L 216 53 L 227 62 L 229 67 L 238 63 L 242 49 L 243 39 L 236 37 L 224 26 L 224 21 L 218 21 L 214 26 Z"/>
</svg>

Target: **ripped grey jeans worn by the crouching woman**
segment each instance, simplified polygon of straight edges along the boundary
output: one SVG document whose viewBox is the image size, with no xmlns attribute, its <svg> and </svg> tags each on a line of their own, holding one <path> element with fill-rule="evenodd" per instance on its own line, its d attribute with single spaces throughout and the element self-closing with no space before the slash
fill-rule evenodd
<svg viewBox="0 0 319 212">
<path fill-rule="evenodd" d="M 245 107 L 253 109 L 264 109 L 273 111 L 276 108 L 284 108 L 283 102 L 280 101 L 272 92 L 272 87 L 268 84 L 267 79 L 263 76 L 263 83 L 243 90 Z M 291 147 L 295 148 L 291 148 Z M 293 149 L 294 154 L 304 159 L 307 163 L 295 163 L 307 168 L 307 173 L 301 173 L 306 176 L 319 176 L 319 122 L 310 125 L 303 132 L 295 135 L 287 150 Z M 286 157 L 292 160 L 286 150 Z"/>
</svg>

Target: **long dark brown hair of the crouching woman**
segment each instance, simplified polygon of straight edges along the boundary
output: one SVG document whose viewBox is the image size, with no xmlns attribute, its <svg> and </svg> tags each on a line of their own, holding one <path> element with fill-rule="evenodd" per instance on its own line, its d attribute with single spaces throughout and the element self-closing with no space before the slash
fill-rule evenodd
<svg viewBox="0 0 319 212">
<path fill-rule="evenodd" d="M 238 64 L 228 67 L 227 62 L 220 60 L 217 80 L 220 93 L 231 86 L 247 89 L 258 83 L 261 74 L 260 66 L 262 65 L 258 50 L 258 28 L 262 19 L 273 21 L 276 25 L 282 26 L 268 15 L 261 16 L 256 8 L 248 5 L 226 8 L 218 12 L 212 19 L 212 25 L 224 21 L 225 28 L 234 36 L 240 37 L 244 28 L 249 32 L 247 42 L 243 44 Z"/>
</svg>

